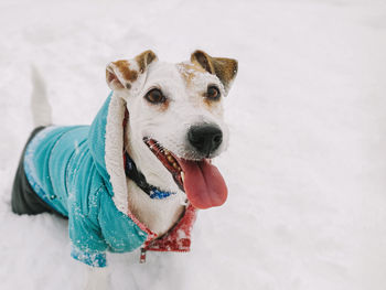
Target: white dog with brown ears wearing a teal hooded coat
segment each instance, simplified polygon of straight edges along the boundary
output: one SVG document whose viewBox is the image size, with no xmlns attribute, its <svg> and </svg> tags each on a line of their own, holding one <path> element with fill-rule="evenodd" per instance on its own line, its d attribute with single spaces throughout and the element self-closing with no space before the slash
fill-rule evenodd
<svg viewBox="0 0 386 290">
<path fill-rule="evenodd" d="M 35 130 L 12 187 L 17 214 L 68 218 L 72 256 L 87 265 L 85 289 L 106 289 L 105 251 L 189 251 L 197 210 L 224 204 L 212 159 L 228 143 L 223 101 L 237 61 L 195 51 L 160 62 L 152 51 L 107 65 L 111 89 L 90 126 L 52 125 L 35 72 Z"/>
</svg>

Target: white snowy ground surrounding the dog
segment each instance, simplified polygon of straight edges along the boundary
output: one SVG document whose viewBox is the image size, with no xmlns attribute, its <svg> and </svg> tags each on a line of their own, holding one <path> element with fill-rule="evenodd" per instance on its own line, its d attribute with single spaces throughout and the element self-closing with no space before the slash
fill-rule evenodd
<svg viewBox="0 0 386 290">
<path fill-rule="evenodd" d="M 89 123 L 105 65 L 152 49 L 239 61 L 226 99 L 229 198 L 191 254 L 109 255 L 115 289 L 386 289 L 385 1 L 0 2 L 0 289 L 79 289 L 67 224 L 15 216 L 30 65 L 56 123 Z"/>
</svg>

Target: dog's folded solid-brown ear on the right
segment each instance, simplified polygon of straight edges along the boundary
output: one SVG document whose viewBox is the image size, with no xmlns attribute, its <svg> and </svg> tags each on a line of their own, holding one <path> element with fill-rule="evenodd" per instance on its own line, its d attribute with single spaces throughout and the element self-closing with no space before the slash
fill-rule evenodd
<svg viewBox="0 0 386 290">
<path fill-rule="evenodd" d="M 212 57 L 203 51 L 195 51 L 191 55 L 191 62 L 199 64 L 206 72 L 216 75 L 223 83 L 225 90 L 230 88 L 237 74 L 237 61 L 224 57 Z"/>
</svg>

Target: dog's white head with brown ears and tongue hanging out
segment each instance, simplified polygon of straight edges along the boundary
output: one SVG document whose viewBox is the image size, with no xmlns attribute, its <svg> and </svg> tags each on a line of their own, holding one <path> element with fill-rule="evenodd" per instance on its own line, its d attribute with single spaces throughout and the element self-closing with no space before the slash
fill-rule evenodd
<svg viewBox="0 0 386 290">
<path fill-rule="evenodd" d="M 150 184 L 185 192 L 199 208 L 225 202 L 226 185 L 211 159 L 227 147 L 223 99 L 236 73 L 235 60 L 202 51 L 179 64 L 146 51 L 107 66 L 107 83 L 129 111 L 126 150 Z"/>
</svg>

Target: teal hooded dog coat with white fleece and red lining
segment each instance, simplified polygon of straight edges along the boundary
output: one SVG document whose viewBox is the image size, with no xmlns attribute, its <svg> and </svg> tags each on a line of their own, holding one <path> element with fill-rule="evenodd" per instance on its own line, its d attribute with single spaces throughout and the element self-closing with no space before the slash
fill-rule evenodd
<svg viewBox="0 0 386 290">
<path fill-rule="evenodd" d="M 90 126 L 50 126 L 26 146 L 25 176 L 34 192 L 68 217 L 72 257 L 106 266 L 106 250 L 189 251 L 196 211 L 157 237 L 128 208 L 124 164 L 125 101 L 112 94 Z"/>
</svg>

